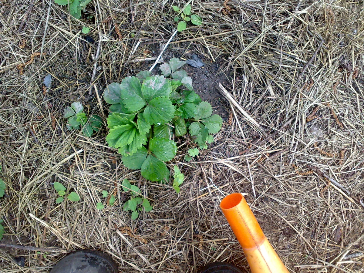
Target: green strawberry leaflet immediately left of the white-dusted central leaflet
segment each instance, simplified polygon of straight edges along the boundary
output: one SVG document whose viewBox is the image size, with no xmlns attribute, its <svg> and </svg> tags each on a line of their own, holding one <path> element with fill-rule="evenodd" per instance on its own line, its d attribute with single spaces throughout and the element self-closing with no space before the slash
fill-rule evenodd
<svg viewBox="0 0 364 273">
<path fill-rule="evenodd" d="M 120 83 L 122 87 L 123 103 L 130 111 L 139 111 L 145 106 L 146 101 L 143 98 L 142 86 L 137 77 L 127 77 Z"/>
</svg>

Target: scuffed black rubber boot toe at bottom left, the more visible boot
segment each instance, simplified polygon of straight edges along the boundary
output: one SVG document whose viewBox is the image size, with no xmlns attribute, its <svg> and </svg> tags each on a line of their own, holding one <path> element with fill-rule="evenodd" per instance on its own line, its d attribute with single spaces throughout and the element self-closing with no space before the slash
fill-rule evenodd
<svg viewBox="0 0 364 273">
<path fill-rule="evenodd" d="M 83 249 L 64 256 L 50 273 L 118 273 L 118 266 L 105 253 Z"/>
</svg>

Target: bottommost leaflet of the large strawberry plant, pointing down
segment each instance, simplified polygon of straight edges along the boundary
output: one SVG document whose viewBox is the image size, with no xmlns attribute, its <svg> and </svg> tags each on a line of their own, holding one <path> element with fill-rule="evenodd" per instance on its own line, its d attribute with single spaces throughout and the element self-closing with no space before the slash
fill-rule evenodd
<svg viewBox="0 0 364 273">
<path fill-rule="evenodd" d="M 163 178 L 169 178 L 166 164 L 154 155 L 148 155 L 142 165 L 141 173 L 145 179 L 150 181 L 161 181 Z"/>
</svg>

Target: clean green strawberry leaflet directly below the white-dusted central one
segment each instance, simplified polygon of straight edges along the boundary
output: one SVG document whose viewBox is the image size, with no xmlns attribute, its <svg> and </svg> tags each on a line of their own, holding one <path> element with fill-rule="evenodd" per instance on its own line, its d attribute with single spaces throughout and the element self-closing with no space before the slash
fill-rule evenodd
<svg viewBox="0 0 364 273">
<path fill-rule="evenodd" d="M 169 98 L 152 99 L 144 110 L 144 118 L 149 124 L 167 123 L 174 118 L 175 108 Z"/>
</svg>

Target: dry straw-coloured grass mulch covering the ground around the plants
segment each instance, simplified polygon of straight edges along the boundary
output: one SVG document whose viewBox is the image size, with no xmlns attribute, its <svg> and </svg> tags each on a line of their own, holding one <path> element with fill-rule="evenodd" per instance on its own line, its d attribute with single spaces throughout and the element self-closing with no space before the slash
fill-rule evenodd
<svg viewBox="0 0 364 273">
<path fill-rule="evenodd" d="M 258 126 L 233 106 L 232 122 L 217 134 L 216 145 L 191 163 L 183 162 L 193 145 L 187 139 L 171 162 L 186 174 L 181 194 L 141 181 L 154 210 L 137 221 L 120 208 L 119 182 L 138 183 L 139 172 L 126 170 L 108 149 L 105 130 L 92 138 L 67 131 L 62 111 L 81 101 L 90 114 L 105 118 L 99 102 L 104 86 L 151 66 L 153 61 L 133 60 L 159 55 L 175 26 L 171 5 L 183 3 L 95 0 L 86 14 L 94 17 L 82 21 L 53 2 L 0 3 L 3 242 L 56 246 L 60 252 L 100 249 L 122 272 L 195 272 L 215 260 L 248 272 L 218 206 L 226 194 L 240 191 L 248 194 L 258 222 L 292 272 L 363 272 L 361 3 L 190 3 L 205 23 L 178 33 L 171 54 L 185 58 L 197 52 L 206 62 L 218 61 L 219 72 L 232 76 L 225 88 Z M 80 33 L 84 25 L 91 28 L 91 45 Z M 19 75 L 16 67 L 34 53 L 46 55 Z M 44 90 L 48 72 L 54 79 Z M 317 117 L 306 122 L 316 107 Z M 82 201 L 57 205 L 55 181 L 77 191 Z M 112 192 L 114 183 L 115 206 L 96 210 L 96 202 L 104 201 L 102 190 Z M 49 250 L 45 257 L 44 251 L 0 252 L 4 273 L 48 272 L 63 256 Z M 15 256 L 25 257 L 25 266 Z"/>
</svg>

